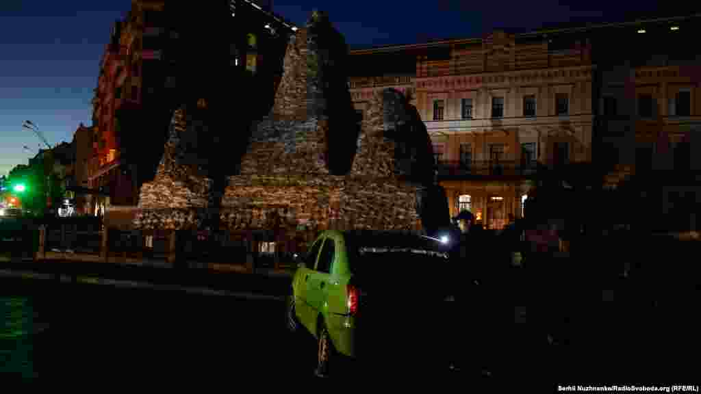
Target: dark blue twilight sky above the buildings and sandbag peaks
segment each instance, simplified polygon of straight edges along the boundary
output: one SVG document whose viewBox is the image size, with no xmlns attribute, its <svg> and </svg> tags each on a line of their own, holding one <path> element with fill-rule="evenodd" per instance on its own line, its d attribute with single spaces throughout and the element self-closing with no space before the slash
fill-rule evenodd
<svg viewBox="0 0 701 394">
<path fill-rule="evenodd" d="M 570 20 L 618 21 L 632 12 L 658 11 L 657 1 L 566 3 L 275 0 L 273 11 L 298 25 L 313 8 L 328 11 L 354 47 L 480 36 L 495 27 L 519 32 Z M 39 125 L 50 144 L 70 141 L 79 123 L 90 124 L 111 22 L 123 18 L 130 5 L 130 0 L 0 0 L 0 175 L 34 156 L 24 145 L 38 148 L 22 121 Z"/>
</svg>

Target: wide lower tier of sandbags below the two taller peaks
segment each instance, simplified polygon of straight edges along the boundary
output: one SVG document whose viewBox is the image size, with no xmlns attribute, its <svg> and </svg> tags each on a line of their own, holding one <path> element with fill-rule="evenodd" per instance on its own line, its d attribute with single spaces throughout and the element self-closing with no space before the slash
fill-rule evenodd
<svg viewBox="0 0 701 394">
<path fill-rule="evenodd" d="M 271 218 L 305 229 L 420 229 L 416 187 L 394 178 L 323 175 L 231 177 L 222 222 L 266 229 Z"/>
</svg>

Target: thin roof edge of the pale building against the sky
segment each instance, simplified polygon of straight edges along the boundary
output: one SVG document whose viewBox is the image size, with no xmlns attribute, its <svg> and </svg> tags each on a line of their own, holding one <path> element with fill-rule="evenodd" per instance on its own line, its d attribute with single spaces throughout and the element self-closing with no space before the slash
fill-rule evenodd
<svg viewBox="0 0 701 394">
<path fill-rule="evenodd" d="M 693 19 L 693 18 L 701 18 L 701 13 L 695 13 L 693 15 L 687 15 L 687 16 L 669 17 L 669 18 L 654 18 L 654 19 L 634 20 L 634 21 L 630 21 L 630 22 L 600 23 L 597 25 L 590 25 L 590 26 L 583 26 L 583 27 L 564 27 L 562 29 L 536 30 L 533 32 L 518 33 L 518 34 L 515 34 L 515 36 L 517 38 L 519 38 L 519 37 L 542 36 L 544 34 L 554 34 L 554 33 L 585 32 L 587 30 L 602 29 L 605 27 L 626 27 L 626 26 L 640 25 L 641 23 L 674 22 L 674 21 L 681 21 L 681 20 L 689 20 L 689 19 Z M 379 46 L 379 47 L 375 47 L 375 48 L 360 48 L 360 49 L 351 50 L 350 53 L 351 53 L 351 55 L 365 55 L 365 54 L 369 54 L 369 53 L 398 52 L 400 50 L 407 50 L 407 49 L 436 48 L 436 47 L 445 46 L 445 45 L 449 45 L 449 44 L 461 45 L 461 44 L 466 44 L 466 43 L 480 43 L 482 41 L 483 41 L 482 38 L 444 39 L 444 40 L 440 40 L 440 41 L 433 41 L 430 43 L 411 43 L 411 44 L 400 44 L 400 45 L 390 44 L 388 46 Z"/>
</svg>

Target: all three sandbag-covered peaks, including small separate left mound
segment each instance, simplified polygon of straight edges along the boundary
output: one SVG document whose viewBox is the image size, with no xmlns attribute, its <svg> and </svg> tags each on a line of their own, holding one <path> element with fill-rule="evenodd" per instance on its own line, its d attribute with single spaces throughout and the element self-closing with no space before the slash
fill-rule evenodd
<svg viewBox="0 0 701 394">
<path fill-rule="evenodd" d="M 290 239 L 322 229 L 421 229 L 417 196 L 432 179 L 412 179 L 411 168 L 433 160 L 426 128 L 391 89 L 369 100 L 358 125 L 343 70 L 346 54 L 343 36 L 325 13 L 315 12 L 291 37 L 273 108 L 252 126 L 240 173 L 227 179 L 223 228 L 275 229 Z M 172 123 L 156 179 L 141 189 L 134 221 L 140 229 L 196 228 L 212 203 L 212 181 L 178 163 L 182 109 Z M 345 170 L 329 165 L 346 157 Z"/>
</svg>

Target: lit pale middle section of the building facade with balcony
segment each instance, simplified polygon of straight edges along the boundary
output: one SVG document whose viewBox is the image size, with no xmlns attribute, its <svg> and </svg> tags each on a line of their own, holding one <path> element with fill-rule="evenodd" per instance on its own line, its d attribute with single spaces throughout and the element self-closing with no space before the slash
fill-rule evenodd
<svg viewBox="0 0 701 394">
<path fill-rule="evenodd" d="M 537 163 L 592 160 L 591 47 L 579 36 L 553 39 L 497 31 L 484 39 L 383 48 L 415 56 L 409 90 L 433 141 L 451 215 L 471 210 L 488 229 L 520 217 Z M 372 50 L 355 51 L 368 55 Z M 366 87 L 351 78 L 356 108 Z"/>
</svg>

